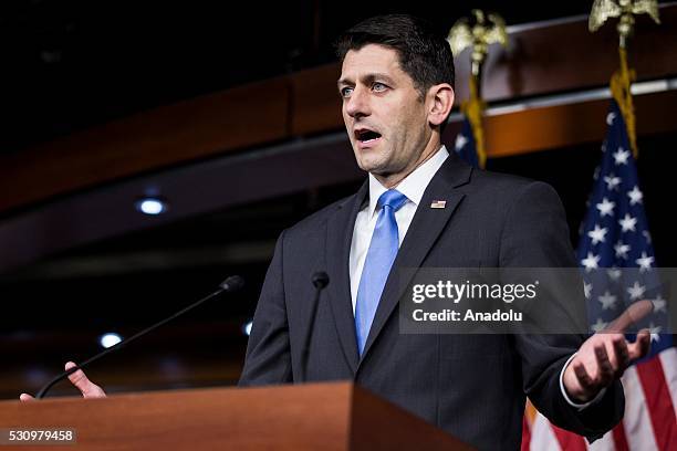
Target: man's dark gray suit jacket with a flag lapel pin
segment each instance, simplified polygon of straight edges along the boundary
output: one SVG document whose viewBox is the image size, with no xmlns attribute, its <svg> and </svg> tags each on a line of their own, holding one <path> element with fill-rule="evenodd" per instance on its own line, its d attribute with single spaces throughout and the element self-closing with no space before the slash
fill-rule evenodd
<svg viewBox="0 0 677 451">
<path fill-rule="evenodd" d="M 555 424 L 596 437 L 617 423 L 623 387 L 579 412 L 559 377 L 577 335 L 406 335 L 397 315 L 403 284 L 384 289 L 358 358 L 348 254 L 368 183 L 285 230 L 261 292 L 240 379 L 243 386 L 300 381 L 314 300 L 326 270 L 308 379 L 354 380 L 480 449 L 518 449 L 525 395 Z M 445 209 L 425 208 L 446 200 Z M 397 268 L 575 266 L 564 211 L 542 182 L 475 170 L 451 155 L 425 191 L 394 263 Z"/>
</svg>

